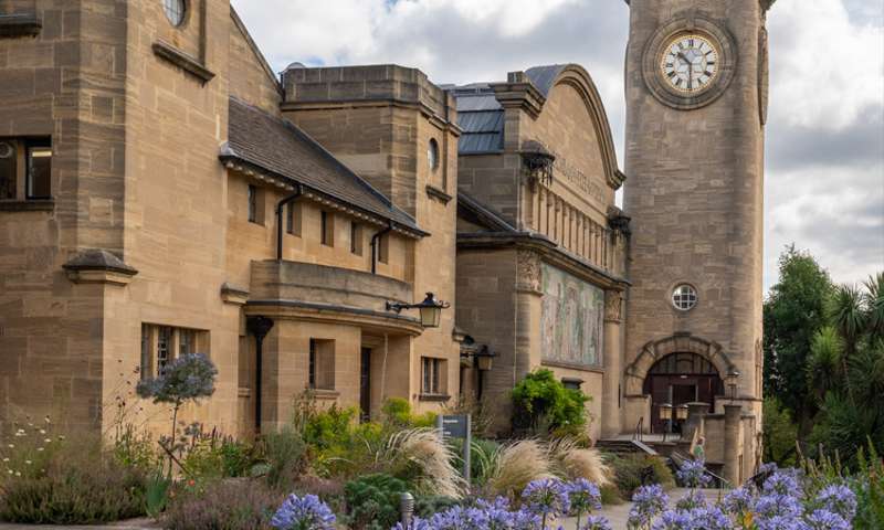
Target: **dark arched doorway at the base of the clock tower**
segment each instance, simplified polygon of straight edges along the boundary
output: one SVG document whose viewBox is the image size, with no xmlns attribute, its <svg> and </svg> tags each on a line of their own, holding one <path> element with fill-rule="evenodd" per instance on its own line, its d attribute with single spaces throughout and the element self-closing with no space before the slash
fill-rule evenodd
<svg viewBox="0 0 884 530">
<path fill-rule="evenodd" d="M 651 432 L 662 433 L 666 428 L 660 418 L 662 404 L 678 406 L 699 401 L 715 410 L 715 396 L 724 393 L 724 381 L 715 365 L 702 356 L 670 353 L 648 370 L 642 390 L 651 395 Z"/>
</svg>

